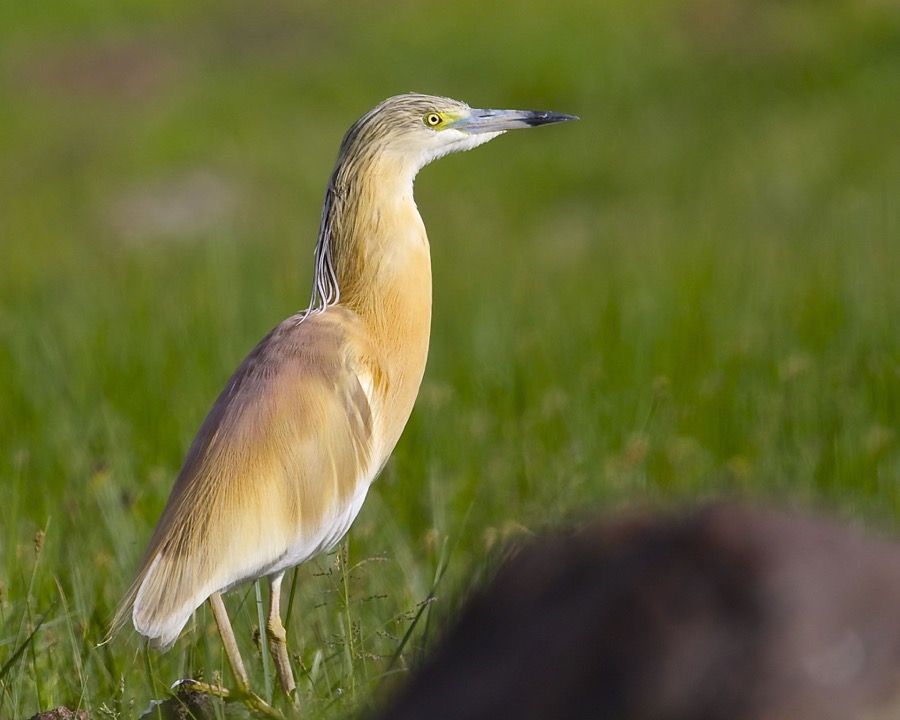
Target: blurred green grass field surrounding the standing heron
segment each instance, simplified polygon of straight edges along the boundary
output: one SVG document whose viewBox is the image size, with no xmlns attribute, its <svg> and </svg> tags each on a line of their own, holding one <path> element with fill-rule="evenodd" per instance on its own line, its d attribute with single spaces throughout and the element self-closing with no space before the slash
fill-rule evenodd
<svg viewBox="0 0 900 720">
<path fill-rule="evenodd" d="M 397 92 L 582 120 L 417 183 L 429 368 L 345 555 L 298 571 L 307 716 L 377 704 L 522 532 L 718 495 L 900 524 L 893 3 L 50 2 L 0 28 L 0 718 L 133 717 L 222 669 L 205 609 L 165 655 L 97 644 L 216 393 L 307 301 L 341 135 Z M 253 587 L 229 605 L 265 692 Z"/>
</svg>

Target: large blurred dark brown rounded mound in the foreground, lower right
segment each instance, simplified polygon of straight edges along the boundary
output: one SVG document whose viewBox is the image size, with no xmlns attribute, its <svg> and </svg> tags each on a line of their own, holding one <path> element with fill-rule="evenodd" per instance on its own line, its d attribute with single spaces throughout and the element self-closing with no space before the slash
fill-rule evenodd
<svg viewBox="0 0 900 720">
<path fill-rule="evenodd" d="M 900 719 L 900 546 L 734 505 L 530 541 L 380 717 Z"/>
</svg>

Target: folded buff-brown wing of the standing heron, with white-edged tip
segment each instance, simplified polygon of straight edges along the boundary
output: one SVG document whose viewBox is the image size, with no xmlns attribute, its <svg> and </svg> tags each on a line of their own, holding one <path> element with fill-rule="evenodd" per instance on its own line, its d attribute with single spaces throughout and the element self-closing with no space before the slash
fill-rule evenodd
<svg viewBox="0 0 900 720">
<path fill-rule="evenodd" d="M 219 395 L 114 626 L 133 609 L 137 630 L 170 646 L 216 590 L 321 549 L 371 482 L 382 462 L 367 395 L 380 383 L 371 348 L 342 308 L 298 320 L 275 328 Z"/>
</svg>

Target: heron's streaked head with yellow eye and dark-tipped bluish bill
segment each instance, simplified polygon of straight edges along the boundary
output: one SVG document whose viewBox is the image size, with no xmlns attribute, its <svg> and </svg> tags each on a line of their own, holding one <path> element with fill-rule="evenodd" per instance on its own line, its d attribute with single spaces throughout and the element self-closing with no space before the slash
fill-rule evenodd
<svg viewBox="0 0 900 720">
<path fill-rule="evenodd" d="M 432 160 L 477 147 L 507 130 L 577 120 L 534 110 L 478 110 L 459 100 L 409 93 L 388 98 L 357 120 L 341 156 L 389 157 L 415 174 Z"/>
</svg>

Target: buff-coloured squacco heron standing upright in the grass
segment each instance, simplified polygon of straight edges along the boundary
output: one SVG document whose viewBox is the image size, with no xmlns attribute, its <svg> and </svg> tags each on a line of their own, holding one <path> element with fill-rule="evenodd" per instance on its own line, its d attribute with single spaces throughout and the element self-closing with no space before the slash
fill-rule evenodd
<svg viewBox="0 0 900 720">
<path fill-rule="evenodd" d="M 130 614 L 165 650 L 209 599 L 235 681 L 249 692 L 221 593 L 267 577 L 266 635 L 293 693 L 284 573 L 347 532 L 425 370 L 431 259 L 413 180 L 432 160 L 507 130 L 573 119 L 408 94 L 350 128 L 325 194 L 310 306 L 272 330 L 215 401 L 114 627 Z"/>
</svg>

